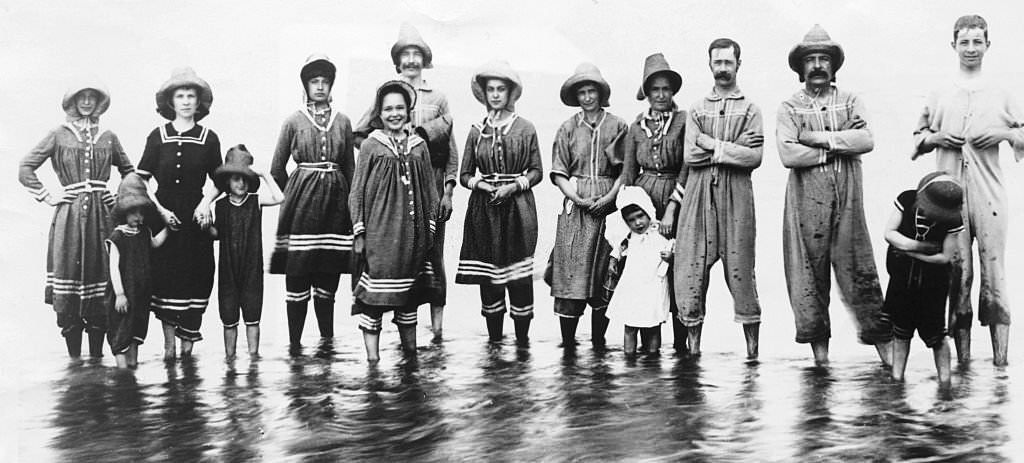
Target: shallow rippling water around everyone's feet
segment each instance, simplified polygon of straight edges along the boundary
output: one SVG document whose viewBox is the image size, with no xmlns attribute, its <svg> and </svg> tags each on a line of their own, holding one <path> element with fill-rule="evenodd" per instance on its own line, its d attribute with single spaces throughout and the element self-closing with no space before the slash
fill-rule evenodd
<svg viewBox="0 0 1024 463">
<path fill-rule="evenodd" d="M 472 296 L 463 292 L 455 299 Z M 611 348 L 596 352 L 585 319 L 580 348 L 565 354 L 551 313 L 538 313 L 534 341 L 521 349 L 510 333 L 502 345 L 488 345 L 478 315 L 459 310 L 474 311 L 450 308 L 439 344 L 428 342 L 421 310 L 415 360 L 403 357 L 397 333 L 386 327 L 377 366 L 364 361 L 347 317 L 337 322 L 332 343 L 316 344 L 307 321 L 307 346 L 293 355 L 284 321 L 276 320 L 283 315 L 268 311 L 262 359 L 243 354 L 233 362 L 222 357 L 214 313 L 188 362 L 160 359 L 153 324 L 135 372 L 118 371 L 109 353 L 100 362 L 69 363 L 47 332 L 39 362 L 5 361 L 3 398 L 17 406 L 16 429 L 5 433 L 15 438 L 3 455 L 10 461 L 708 462 L 1024 455 L 1022 398 L 1012 381 L 1021 359 L 992 367 L 980 329 L 977 359 L 962 368 L 954 361 L 953 386 L 942 391 L 931 352 L 919 340 L 907 381 L 895 383 L 873 349 L 848 336 L 834 340 L 831 367 L 820 369 L 805 346 L 778 339 L 773 330 L 782 327 L 766 325 L 762 361 L 752 364 L 741 356 L 738 327 L 716 320 L 698 361 L 676 359 L 669 348 L 660 357 L 630 361 L 618 348 L 618 328 L 609 330 Z M 664 336 L 671 344 L 670 329 Z"/>
</svg>

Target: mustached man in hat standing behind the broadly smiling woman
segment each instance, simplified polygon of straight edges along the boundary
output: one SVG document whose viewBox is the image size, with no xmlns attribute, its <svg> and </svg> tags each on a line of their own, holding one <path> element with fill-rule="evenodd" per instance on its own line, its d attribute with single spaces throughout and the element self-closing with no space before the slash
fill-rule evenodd
<svg viewBox="0 0 1024 463">
<path fill-rule="evenodd" d="M 459 171 L 459 149 L 452 133 L 453 121 L 447 98 L 423 79 L 423 70 L 433 68 L 433 53 L 412 25 L 401 25 L 398 40 L 391 46 L 391 61 L 399 78 L 416 88 L 416 108 L 413 109 L 410 125 L 417 135 L 427 141 L 439 199 L 437 229 L 430 251 L 430 262 L 442 284 L 440 290 L 436 291 L 436 297 L 430 302 L 430 327 L 434 333 L 434 341 L 440 341 L 447 288 L 444 277 L 444 223 L 452 216 L 452 192 Z M 374 129 L 383 129 L 374 127 L 380 122 L 372 113 L 373 108 L 355 125 L 356 144 L 360 144 Z"/>
</svg>

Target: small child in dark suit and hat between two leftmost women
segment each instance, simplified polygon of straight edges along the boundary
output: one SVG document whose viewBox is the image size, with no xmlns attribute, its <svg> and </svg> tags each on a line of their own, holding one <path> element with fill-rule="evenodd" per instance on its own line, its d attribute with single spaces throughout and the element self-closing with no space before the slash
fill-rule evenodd
<svg viewBox="0 0 1024 463">
<path fill-rule="evenodd" d="M 111 281 L 106 287 L 106 340 L 118 368 L 138 366 L 138 345 L 145 340 L 150 325 L 150 298 L 153 295 L 150 250 L 167 239 L 168 227 L 156 236 L 145 225 L 155 217 L 156 205 L 145 191 L 145 180 L 131 173 L 118 186 L 113 217 L 117 222 L 106 239 Z M 160 220 L 153 220 L 160 224 Z"/>
</svg>

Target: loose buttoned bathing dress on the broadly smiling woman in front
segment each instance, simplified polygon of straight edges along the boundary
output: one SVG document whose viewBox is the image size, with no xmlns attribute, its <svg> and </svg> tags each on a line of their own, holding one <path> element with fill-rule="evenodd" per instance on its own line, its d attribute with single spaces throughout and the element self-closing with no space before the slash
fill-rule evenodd
<svg viewBox="0 0 1024 463">
<path fill-rule="evenodd" d="M 384 309 L 415 309 L 440 290 L 429 258 L 434 186 L 430 154 L 419 136 L 399 142 L 377 130 L 362 142 L 349 196 L 354 234 L 366 237 L 352 314 L 379 319 Z"/>
</svg>

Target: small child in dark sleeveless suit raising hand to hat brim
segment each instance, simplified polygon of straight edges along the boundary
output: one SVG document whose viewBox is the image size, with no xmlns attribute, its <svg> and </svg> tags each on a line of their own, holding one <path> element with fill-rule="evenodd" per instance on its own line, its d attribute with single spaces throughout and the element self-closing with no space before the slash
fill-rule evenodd
<svg viewBox="0 0 1024 463">
<path fill-rule="evenodd" d="M 214 202 L 210 235 L 220 240 L 217 293 L 220 322 L 224 325 L 224 355 L 234 357 L 239 315 L 246 323 L 249 354 L 259 355 L 259 322 L 263 313 L 263 206 L 285 200 L 278 183 L 266 172 L 252 169 L 253 156 L 244 144 L 232 146 L 224 164 L 213 173 L 214 182 L 226 192 Z M 257 194 L 260 178 L 269 196 Z"/>
</svg>

